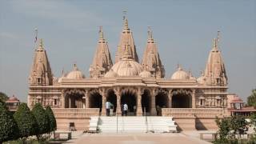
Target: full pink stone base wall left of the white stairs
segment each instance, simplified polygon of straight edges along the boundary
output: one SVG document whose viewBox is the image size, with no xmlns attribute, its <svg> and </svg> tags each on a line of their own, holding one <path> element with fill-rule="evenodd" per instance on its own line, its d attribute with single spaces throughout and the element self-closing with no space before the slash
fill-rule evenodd
<svg viewBox="0 0 256 144">
<path fill-rule="evenodd" d="M 90 116 L 99 114 L 98 108 L 54 108 L 54 116 L 57 122 L 57 130 L 70 130 L 70 122 L 74 122 L 74 127 L 78 131 L 88 130 Z"/>
</svg>

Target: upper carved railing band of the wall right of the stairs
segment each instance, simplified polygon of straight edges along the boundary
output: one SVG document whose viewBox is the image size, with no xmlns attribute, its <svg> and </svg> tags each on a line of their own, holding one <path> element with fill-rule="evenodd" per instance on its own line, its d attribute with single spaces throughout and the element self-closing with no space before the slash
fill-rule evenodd
<svg viewBox="0 0 256 144">
<path fill-rule="evenodd" d="M 227 112 L 221 108 L 162 108 L 162 115 L 174 118 L 222 118 L 227 116 Z"/>
</svg>

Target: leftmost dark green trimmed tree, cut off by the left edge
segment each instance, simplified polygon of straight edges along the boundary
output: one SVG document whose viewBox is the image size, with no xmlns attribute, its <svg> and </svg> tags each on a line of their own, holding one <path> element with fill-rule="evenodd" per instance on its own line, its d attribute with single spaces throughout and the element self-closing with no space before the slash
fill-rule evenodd
<svg viewBox="0 0 256 144">
<path fill-rule="evenodd" d="M 0 102 L 0 143 L 18 138 L 18 126 L 14 117 Z"/>
</svg>

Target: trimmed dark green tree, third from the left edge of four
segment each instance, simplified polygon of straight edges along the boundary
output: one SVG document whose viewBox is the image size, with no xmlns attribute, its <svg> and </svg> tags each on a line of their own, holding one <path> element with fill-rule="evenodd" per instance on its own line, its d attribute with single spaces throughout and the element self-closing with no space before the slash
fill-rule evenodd
<svg viewBox="0 0 256 144">
<path fill-rule="evenodd" d="M 43 109 L 40 103 L 34 105 L 34 108 L 32 109 L 32 114 L 34 114 L 34 118 L 38 123 L 38 130 L 36 135 L 38 138 L 38 142 L 40 142 L 42 134 L 46 134 L 50 131 L 49 117 L 46 114 L 46 110 Z"/>
</svg>

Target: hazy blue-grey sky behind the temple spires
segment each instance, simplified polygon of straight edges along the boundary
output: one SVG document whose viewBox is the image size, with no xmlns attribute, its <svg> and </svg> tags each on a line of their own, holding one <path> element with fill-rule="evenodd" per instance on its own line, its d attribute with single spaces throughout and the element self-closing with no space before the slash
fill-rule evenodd
<svg viewBox="0 0 256 144">
<path fill-rule="evenodd" d="M 166 78 L 177 64 L 194 76 L 206 66 L 212 39 L 221 30 L 220 49 L 229 92 L 244 100 L 256 88 L 256 1 L 0 1 L 0 90 L 23 102 L 34 57 L 34 28 L 43 38 L 55 76 L 62 68 L 88 70 L 103 26 L 114 60 L 122 10 L 141 60 L 151 26 Z"/>
</svg>

